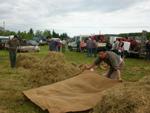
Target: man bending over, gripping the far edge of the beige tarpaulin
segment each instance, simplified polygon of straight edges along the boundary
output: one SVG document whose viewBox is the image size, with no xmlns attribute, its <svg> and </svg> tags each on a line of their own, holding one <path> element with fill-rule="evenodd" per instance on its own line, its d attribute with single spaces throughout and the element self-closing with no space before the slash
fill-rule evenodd
<svg viewBox="0 0 150 113">
<path fill-rule="evenodd" d="M 87 69 L 92 69 L 94 66 L 99 65 L 102 61 L 110 66 L 105 76 L 122 82 L 120 70 L 123 66 L 123 60 L 116 53 L 106 51 L 106 49 L 98 52 L 97 59 L 91 66 L 87 66 Z"/>
</svg>

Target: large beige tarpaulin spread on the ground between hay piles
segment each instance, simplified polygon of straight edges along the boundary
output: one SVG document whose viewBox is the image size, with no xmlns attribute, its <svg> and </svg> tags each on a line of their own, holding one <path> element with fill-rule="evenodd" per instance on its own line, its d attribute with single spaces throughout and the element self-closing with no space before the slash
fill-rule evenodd
<svg viewBox="0 0 150 113">
<path fill-rule="evenodd" d="M 117 81 L 96 72 L 85 71 L 76 77 L 23 93 L 43 110 L 64 113 L 93 108 L 100 101 L 102 91 L 116 84 Z"/>
</svg>

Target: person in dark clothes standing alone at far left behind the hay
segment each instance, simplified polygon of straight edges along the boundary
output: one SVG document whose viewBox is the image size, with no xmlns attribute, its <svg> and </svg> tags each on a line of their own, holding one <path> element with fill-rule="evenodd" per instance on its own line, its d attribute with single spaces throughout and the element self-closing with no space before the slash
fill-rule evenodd
<svg viewBox="0 0 150 113">
<path fill-rule="evenodd" d="M 8 41 L 10 64 L 12 68 L 16 67 L 17 48 L 19 47 L 19 40 L 17 38 L 18 37 L 15 35 L 12 39 L 9 39 Z"/>
</svg>

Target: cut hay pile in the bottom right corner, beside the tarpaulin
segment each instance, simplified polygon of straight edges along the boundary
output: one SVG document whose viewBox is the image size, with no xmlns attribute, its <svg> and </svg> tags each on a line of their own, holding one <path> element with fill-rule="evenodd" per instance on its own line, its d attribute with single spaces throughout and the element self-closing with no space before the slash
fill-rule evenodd
<svg viewBox="0 0 150 113">
<path fill-rule="evenodd" d="M 150 113 L 150 76 L 105 92 L 93 113 Z"/>
</svg>

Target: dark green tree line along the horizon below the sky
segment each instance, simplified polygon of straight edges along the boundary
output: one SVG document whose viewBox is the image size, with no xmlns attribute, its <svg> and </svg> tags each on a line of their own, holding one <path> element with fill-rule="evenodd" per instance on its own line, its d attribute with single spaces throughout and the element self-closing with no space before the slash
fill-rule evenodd
<svg viewBox="0 0 150 113">
<path fill-rule="evenodd" d="M 17 35 L 22 39 L 32 39 L 33 37 L 45 37 L 45 38 L 60 38 L 61 40 L 63 39 L 68 39 L 69 36 L 67 35 L 67 33 L 56 33 L 54 30 L 50 31 L 50 30 L 37 30 L 37 31 L 33 31 L 32 28 L 30 28 L 30 30 L 27 31 L 18 31 L 18 32 L 14 32 L 14 31 L 9 31 L 9 30 L 0 30 L 0 35 L 1 36 L 9 36 L 9 35 Z M 110 36 L 110 34 L 106 34 L 106 36 Z M 136 32 L 136 33 L 121 33 L 121 34 L 111 34 L 114 36 L 120 36 L 120 37 L 135 37 L 135 36 L 142 36 L 142 32 Z M 146 32 L 145 36 L 147 37 L 147 39 L 150 39 L 150 32 Z"/>
</svg>

